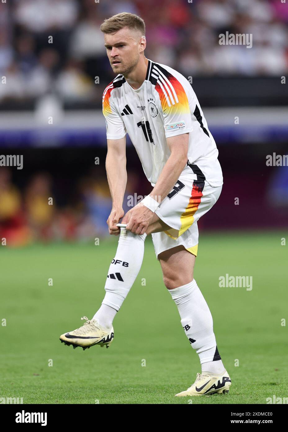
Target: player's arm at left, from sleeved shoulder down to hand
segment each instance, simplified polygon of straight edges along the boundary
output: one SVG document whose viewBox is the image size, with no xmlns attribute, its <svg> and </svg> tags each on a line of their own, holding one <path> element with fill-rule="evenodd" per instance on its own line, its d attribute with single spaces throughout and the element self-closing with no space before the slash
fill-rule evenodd
<svg viewBox="0 0 288 432">
<path fill-rule="evenodd" d="M 118 104 L 113 102 L 113 91 L 112 82 L 104 90 L 102 111 L 106 120 L 106 173 L 112 198 L 112 210 L 107 224 L 109 233 L 118 235 L 120 228 L 116 224 L 124 216 L 122 205 L 127 184 L 126 128 L 121 113 L 116 108 Z"/>
</svg>

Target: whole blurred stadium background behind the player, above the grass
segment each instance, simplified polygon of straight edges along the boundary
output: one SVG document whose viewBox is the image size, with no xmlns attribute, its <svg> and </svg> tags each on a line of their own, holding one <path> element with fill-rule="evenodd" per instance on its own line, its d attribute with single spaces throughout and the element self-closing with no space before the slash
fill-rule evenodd
<svg viewBox="0 0 288 432">
<path fill-rule="evenodd" d="M 0 168 L 1 237 L 17 246 L 107 235 L 101 103 L 114 75 L 99 25 L 119 11 L 145 20 L 147 58 L 190 77 L 216 140 L 224 186 L 200 227 L 287 228 L 287 167 L 266 166 L 267 155 L 288 149 L 285 4 L 14 0 L 0 4 L 0 73 L 7 80 L 0 86 L 0 154 L 22 154 L 24 168 Z M 226 31 L 252 33 L 253 47 L 220 46 Z M 127 194 L 144 196 L 150 185 L 127 142 Z M 44 209 L 47 194 L 53 211 Z"/>
</svg>

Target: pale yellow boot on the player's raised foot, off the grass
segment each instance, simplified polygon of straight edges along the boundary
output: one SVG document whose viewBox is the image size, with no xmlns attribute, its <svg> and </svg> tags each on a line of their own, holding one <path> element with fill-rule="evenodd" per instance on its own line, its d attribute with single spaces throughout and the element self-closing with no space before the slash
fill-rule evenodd
<svg viewBox="0 0 288 432">
<path fill-rule="evenodd" d="M 100 345 L 101 348 L 106 346 L 109 348 L 113 342 L 114 329 L 113 326 L 110 330 L 101 327 L 97 320 L 88 320 L 87 317 L 81 318 L 86 320 L 82 327 L 76 330 L 69 331 L 68 333 L 61 334 L 60 340 L 65 345 L 73 345 L 73 348 L 81 346 L 83 349 L 90 348 L 90 346 Z"/>
</svg>

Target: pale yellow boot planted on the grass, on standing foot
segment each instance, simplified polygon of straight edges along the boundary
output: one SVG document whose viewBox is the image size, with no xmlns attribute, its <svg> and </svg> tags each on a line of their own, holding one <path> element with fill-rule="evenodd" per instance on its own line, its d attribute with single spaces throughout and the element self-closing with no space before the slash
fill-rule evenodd
<svg viewBox="0 0 288 432">
<path fill-rule="evenodd" d="M 231 386 L 231 379 L 227 371 L 223 371 L 220 375 L 210 372 L 197 372 L 197 378 L 194 384 L 187 390 L 175 394 L 175 396 L 203 396 L 214 393 L 228 393 Z"/>
</svg>

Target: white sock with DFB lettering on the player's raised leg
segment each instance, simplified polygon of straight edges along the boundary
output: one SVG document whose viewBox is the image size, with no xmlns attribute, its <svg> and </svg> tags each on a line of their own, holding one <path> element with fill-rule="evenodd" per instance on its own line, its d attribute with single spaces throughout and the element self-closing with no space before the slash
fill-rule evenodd
<svg viewBox="0 0 288 432">
<path fill-rule="evenodd" d="M 93 319 L 106 328 L 111 328 L 113 318 L 119 311 L 131 286 L 141 269 L 144 256 L 144 240 L 147 234 L 133 234 L 131 231 L 121 229 L 116 255 L 112 260 L 105 283 L 105 297 L 102 305 L 113 308 L 115 313 L 109 309 L 100 307 Z M 107 316 L 105 313 L 107 312 Z"/>
</svg>

